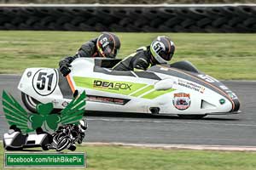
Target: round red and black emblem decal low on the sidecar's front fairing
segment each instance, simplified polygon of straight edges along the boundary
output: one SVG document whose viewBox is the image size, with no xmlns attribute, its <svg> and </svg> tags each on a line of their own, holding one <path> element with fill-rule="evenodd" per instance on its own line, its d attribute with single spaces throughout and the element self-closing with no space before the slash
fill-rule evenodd
<svg viewBox="0 0 256 170">
<path fill-rule="evenodd" d="M 191 104 L 190 94 L 173 94 L 172 104 L 180 111 L 188 109 Z"/>
</svg>

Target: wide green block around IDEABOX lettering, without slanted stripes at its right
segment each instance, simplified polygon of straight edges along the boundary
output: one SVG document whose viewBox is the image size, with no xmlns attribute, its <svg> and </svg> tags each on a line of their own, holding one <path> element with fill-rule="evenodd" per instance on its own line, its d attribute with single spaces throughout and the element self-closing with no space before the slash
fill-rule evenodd
<svg viewBox="0 0 256 170">
<path fill-rule="evenodd" d="M 124 94 L 128 95 L 131 94 L 139 88 L 143 88 L 147 86 L 148 84 L 143 84 L 143 83 L 134 83 L 134 82 L 116 82 L 116 81 L 111 81 L 111 80 L 103 80 L 100 78 L 91 78 L 91 77 L 73 77 L 73 80 L 75 84 L 81 88 L 91 88 L 91 89 L 96 89 L 99 91 L 103 92 L 109 92 L 113 94 Z M 131 90 L 130 89 L 113 89 L 113 88 L 99 88 L 94 86 L 94 81 L 102 81 L 102 82 L 113 82 L 113 83 L 126 83 L 131 85 Z"/>
</svg>

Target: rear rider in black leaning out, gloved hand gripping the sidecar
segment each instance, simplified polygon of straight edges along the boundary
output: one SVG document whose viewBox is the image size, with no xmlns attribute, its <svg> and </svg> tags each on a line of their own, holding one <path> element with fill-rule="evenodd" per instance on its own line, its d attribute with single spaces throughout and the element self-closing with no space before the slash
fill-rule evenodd
<svg viewBox="0 0 256 170">
<path fill-rule="evenodd" d="M 106 57 L 114 59 L 119 52 L 120 45 L 119 37 L 115 34 L 102 32 L 99 37 L 85 42 L 73 57 L 61 59 L 59 63 L 60 71 L 66 77 L 71 71 L 69 69 L 70 64 L 79 57 Z"/>
</svg>

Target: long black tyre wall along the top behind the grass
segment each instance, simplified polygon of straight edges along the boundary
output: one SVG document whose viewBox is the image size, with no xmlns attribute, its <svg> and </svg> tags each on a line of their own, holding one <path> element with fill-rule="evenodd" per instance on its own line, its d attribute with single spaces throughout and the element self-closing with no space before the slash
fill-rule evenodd
<svg viewBox="0 0 256 170">
<path fill-rule="evenodd" d="M 256 4 L 0 5 L 0 30 L 256 32 Z"/>
</svg>

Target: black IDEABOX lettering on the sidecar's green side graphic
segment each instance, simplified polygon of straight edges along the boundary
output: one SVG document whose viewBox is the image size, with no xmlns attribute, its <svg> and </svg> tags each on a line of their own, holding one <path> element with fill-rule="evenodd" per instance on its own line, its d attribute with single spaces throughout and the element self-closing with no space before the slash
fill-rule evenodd
<svg viewBox="0 0 256 170">
<path fill-rule="evenodd" d="M 108 88 L 112 90 L 131 90 L 131 84 L 125 82 L 107 82 L 95 80 L 93 82 L 94 88 Z"/>
</svg>

